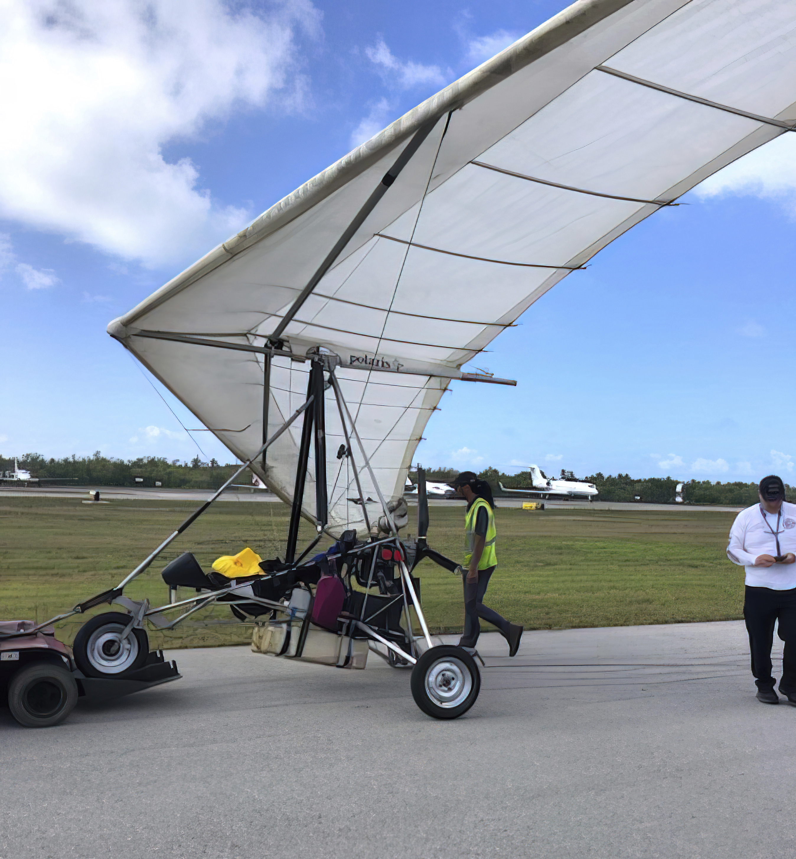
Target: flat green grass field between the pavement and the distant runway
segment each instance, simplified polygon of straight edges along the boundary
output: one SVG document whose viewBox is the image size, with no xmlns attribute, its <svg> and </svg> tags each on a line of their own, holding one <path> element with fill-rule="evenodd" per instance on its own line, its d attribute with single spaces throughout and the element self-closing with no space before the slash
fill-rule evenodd
<svg viewBox="0 0 796 859">
<path fill-rule="evenodd" d="M 43 621 L 111 588 L 196 505 L 169 501 L 82 504 L 70 498 L 0 501 L 0 619 Z M 464 510 L 432 507 L 429 544 L 459 559 Z M 289 509 L 280 503 L 217 503 L 125 591 L 167 602 L 160 570 L 183 551 L 205 569 L 245 545 L 263 557 L 283 551 Z M 414 509 L 410 509 L 410 518 Z M 744 570 L 726 559 L 733 513 L 497 509 L 498 570 L 487 604 L 526 629 L 671 624 L 741 617 Z M 310 539 L 312 529 L 301 534 Z M 325 544 L 321 544 L 323 546 Z M 422 604 L 436 631 L 463 624 L 461 582 L 423 562 Z M 185 594 L 186 596 L 188 594 Z M 100 606 L 97 612 L 108 611 Z M 153 631 L 153 646 L 244 643 L 228 608 L 210 624 Z M 60 624 L 70 642 L 85 618 Z"/>
</svg>

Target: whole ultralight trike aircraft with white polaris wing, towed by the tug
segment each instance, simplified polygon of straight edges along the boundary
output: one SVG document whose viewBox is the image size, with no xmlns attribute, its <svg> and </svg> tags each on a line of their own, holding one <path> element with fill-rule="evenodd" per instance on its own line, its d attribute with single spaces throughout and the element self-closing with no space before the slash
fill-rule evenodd
<svg viewBox="0 0 796 859">
<path fill-rule="evenodd" d="M 422 503 L 417 539 L 401 536 L 429 417 L 454 381 L 514 384 L 463 368 L 562 278 L 794 130 L 796 3 L 782 0 L 579 0 L 423 101 L 108 326 L 291 505 L 285 557 L 219 582 L 185 553 L 164 570 L 175 601 L 125 597 L 210 499 L 47 624 L 124 608 L 74 646 L 84 671 L 118 675 L 145 658 L 147 620 L 226 600 L 267 652 L 362 667 L 376 649 L 412 666 L 422 710 L 461 715 L 477 663 L 434 645 L 414 575 L 422 558 L 456 564 L 428 546 Z M 300 548 L 302 516 L 315 538 Z"/>
</svg>

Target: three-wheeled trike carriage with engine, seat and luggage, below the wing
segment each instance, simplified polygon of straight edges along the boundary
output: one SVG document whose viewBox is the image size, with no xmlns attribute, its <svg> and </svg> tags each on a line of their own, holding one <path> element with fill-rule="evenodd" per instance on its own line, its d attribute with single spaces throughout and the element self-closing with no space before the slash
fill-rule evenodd
<svg viewBox="0 0 796 859">
<path fill-rule="evenodd" d="M 325 490 L 325 390 L 331 389 L 339 414 L 346 415 L 335 365 L 328 357 L 313 359 L 309 372 L 307 399 L 258 450 L 256 457 L 274 445 L 300 417 L 301 444 L 296 464 L 294 503 L 288 528 L 285 559 L 275 558 L 260 564 L 255 575 L 229 578 L 205 572 L 191 552 L 176 557 L 162 570 L 169 601 L 150 606 L 149 600 L 131 600 L 125 587 L 153 564 L 173 539 L 184 533 L 211 503 L 222 495 L 246 468 L 248 460 L 197 509 L 142 564 L 132 570 L 115 588 L 85 600 L 71 612 L 46 622 L 52 625 L 72 615 L 88 612 L 105 603 L 125 612 L 102 612 L 82 624 L 73 643 L 76 667 L 94 679 L 124 679 L 135 675 L 149 659 L 146 624 L 170 630 L 203 609 L 227 605 L 242 624 L 251 624 L 252 649 L 264 654 L 297 661 L 312 661 L 341 668 L 364 668 L 368 653 L 379 655 L 392 667 L 411 669 L 411 690 L 416 704 L 429 716 L 451 719 L 461 716 L 475 703 L 480 690 L 480 674 L 474 651 L 452 645 L 434 644 L 422 612 L 420 580 L 413 576 L 417 564 L 428 557 L 447 570 L 458 565 L 428 546 L 428 500 L 425 477 L 418 469 L 418 507 L 416 539 L 402 539 L 399 527 L 408 519 L 403 499 L 386 503 L 371 472 L 382 505 L 382 515 L 373 527 L 368 519 L 372 499 L 360 496 L 358 503 L 368 527 L 367 539 L 360 539 L 355 528 L 344 530 L 331 548 L 310 557 L 324 533 L 328 533 Z M 354 484 L 361 487 L 360 472 L 351 450 L 354 436 L 364 456 L 362 442 L 353 422 L 343 418 L 347 444 L 341 452 L 355 474 Z M 310 458 L 310 448 L 314 458 Z M 301 501 L 308 470 L 314 483 L 313 520 L 316 537 L 297 554 Z M 370 503 L 370 504 L 369 504 Z M 193 593 L 187 597 L 185 591 Z M 414 618 L 420 626 L 416 634 Z M 30 633 L 43 628 L 34 627 Z M 2 633 L 0 633 L 2 636 Z"/>
</svg>

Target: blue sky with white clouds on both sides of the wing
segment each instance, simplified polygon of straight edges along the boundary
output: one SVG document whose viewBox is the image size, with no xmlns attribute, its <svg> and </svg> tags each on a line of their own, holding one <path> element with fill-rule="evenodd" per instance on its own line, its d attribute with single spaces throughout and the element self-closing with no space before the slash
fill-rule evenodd
<svg viewBox="0 0 796 859">
<path fill-rule="evenodd" d="M 15 117 L 0 130 L 7 456 L 196 455 L 107 321 L 565 4 L 159 0 L 145 22 L 142 5 L 0 12 L 0 101 Z M 792 476 L 792 137 L 533 305 L 479 360 L 518 387 L 453 383 L 417 459 Z M 203 458 L 230 459 L 194 438 Z"/>
</svg>

